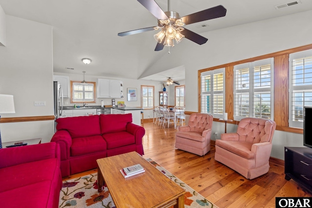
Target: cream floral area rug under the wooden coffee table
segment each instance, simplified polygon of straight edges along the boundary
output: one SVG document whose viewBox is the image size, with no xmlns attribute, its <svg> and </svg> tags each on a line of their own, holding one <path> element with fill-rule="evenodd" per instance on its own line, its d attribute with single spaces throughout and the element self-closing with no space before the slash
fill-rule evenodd
<svg viewBox="0 0 312 208">
<path fill-rule="evenodd" d="M 159 171 L 186 190 L 184 195 L 185 208 L 217 208 L 194 189 L 183 183 L 168 170 L 147 159 Z M 104 185 L 98 193 L 97 173 L 63 181 L 59 197 L 59 208 L 116 208 L 109 190 Z"/>
</svg>

